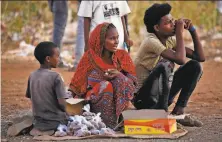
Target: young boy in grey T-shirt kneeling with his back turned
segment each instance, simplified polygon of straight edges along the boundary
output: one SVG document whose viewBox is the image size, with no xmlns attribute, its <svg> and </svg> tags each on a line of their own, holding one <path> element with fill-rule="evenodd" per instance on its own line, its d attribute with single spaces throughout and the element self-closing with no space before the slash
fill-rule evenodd
<svg viewBox="0 0 222 142">
<path fill-rule="evenodd" d="M 40 68 L 32 72 L 28 79 L 26 97 L 32 102 L 34 128 L 31 135 L 52 135 L 59 124 L 67 124 L 65 111 L 65 93 L 62 77 L 51 68 L 59 63 L 59 48 L 53 42 L 41 42 L 34 51 Z M 23 121 L 10 129 L 9 135 L 19 134 L 30 121 Z"/>
</svg>

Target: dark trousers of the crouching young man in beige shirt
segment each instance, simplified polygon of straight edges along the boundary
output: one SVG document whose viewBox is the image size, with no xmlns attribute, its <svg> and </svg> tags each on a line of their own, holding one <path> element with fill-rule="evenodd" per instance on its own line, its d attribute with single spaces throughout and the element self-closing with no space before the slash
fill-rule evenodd
<svg viewBox="0 0 222 142">
<path fill-rule="evenodd" d="M 188 100 L 202 75 L 199 62 L 190 60 L 179 67 L 170 86 L 170 68 L 166 63 L 155 67 L 134 98 L 137 109 L 164 109 L 173 103 L 181 90 L 176 106 L 186 107 Z"/>
</svg>

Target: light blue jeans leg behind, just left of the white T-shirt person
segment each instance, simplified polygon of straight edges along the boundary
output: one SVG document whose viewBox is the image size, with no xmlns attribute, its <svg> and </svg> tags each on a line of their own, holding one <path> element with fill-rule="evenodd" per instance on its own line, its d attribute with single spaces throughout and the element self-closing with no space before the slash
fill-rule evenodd
<svg viewBox="0 0 222 142">
<path fill-rule="evenodd" d="M 80 2 L 78 2 L 78 9 Z M 74 68 L 77 67 L 81 57 L 84 54 L 85 40 L 84 40 L 84 18 L 78 16 L 78 26 L 77 26 L 77 37 L 76 37 L 76 47 L 74 49 L 75 60 Z"/>
</svg>

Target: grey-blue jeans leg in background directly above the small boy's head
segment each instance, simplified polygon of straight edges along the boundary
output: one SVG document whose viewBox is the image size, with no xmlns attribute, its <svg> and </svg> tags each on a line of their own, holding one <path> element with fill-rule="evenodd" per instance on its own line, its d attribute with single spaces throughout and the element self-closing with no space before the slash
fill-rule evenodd
<svg viewBox="0 0 222 142">
<path fill-rule="evenodd" d="M 53 42 L 60 48 L 68 18 L 67 0 L 48 0 L 50 10 L 53 13 Z"/>
</svg>

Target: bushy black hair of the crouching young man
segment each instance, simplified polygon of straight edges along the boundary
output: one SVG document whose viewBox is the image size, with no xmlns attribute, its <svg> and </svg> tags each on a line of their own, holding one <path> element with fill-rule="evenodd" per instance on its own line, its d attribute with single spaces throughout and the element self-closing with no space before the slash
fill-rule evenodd
<svg viewBox="0 0 222 142">
<path fill-rule="evenodd" d="M 158 24 L 160 19 L 169 14 L 171 11 L 171 6 L 168 3 L 158 4 L 155 3 L 149 7 L 144 15 L 144 24 L 146 25 L 147 32 L 154 33 L 154 25 Z"/>
</svg>

